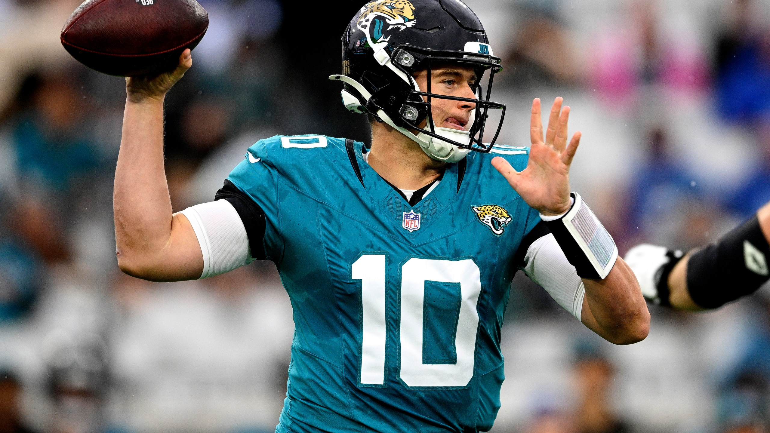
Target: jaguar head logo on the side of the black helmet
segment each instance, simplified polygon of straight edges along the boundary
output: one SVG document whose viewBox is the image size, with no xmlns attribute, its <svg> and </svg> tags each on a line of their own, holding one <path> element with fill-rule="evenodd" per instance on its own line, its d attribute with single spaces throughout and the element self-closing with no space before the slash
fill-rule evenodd
<svg viewBox="0 0 770 433">
<path fill-rule="evenodd" d="M 393 29 L 401 31 L 417 24 L 414 5 L 407 0 L 377 0 L 367 3 L 361 10 L 356 25 L 372 44 L 387 42 L 390 39 L 387 33 Z"/>
</svg>

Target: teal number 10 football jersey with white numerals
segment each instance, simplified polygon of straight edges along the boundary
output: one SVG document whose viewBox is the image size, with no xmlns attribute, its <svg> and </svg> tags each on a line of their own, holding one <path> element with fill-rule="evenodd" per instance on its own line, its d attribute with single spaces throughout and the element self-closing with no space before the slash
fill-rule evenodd
<svg viewBox="0 0 770 433">
<path fill-rule="evenodd" d="M 487 431 L 517 251 L 540 222 L 490 160 L 524 170 L 528 150 L 471 152 L 414 206 L 365 151 L 274 136 L 228 178 L 264 213 L 259 247 L 294 311 L 276 431 Z"/>
</svg>

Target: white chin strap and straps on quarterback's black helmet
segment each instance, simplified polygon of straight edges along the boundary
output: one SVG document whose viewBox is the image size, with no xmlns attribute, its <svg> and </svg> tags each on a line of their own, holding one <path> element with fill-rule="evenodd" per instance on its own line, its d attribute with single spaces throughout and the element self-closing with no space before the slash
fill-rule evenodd
<svg viewBox="0 0 770 433">
<path fill-rule="evenodd" d="M 358 100 L 357 97 L 351 95 L 350 92 L 347 92 L 346 90 L 342 91 L 342 101 L 345 104 L 345 108 L 349 111 L 365 112 L 363 111 L 362 107 L 366 102 L 369 102 L 369 99 L 372 97 L 372 94 L 368 92 L 365 87 L 361 86 L 359 82 L 351 79 L 349 76 L 334 75 L 330 76 L 329 79 L 340 80 L 341 82 L 344 82 L 345 84 L 353 87 L 353 89 L 356 89 L 361 94 L 361 96 L 366 99 L 363 101 L 363 104 Z M 409 129 L 402 128 L 401 126 L 397 126 L 395 123 L 393 123 L 393 119 L 390 119 L 390 116 L 388 116 L 387 113 L 381 109 L 377 111 L 377 116 L 380 117 L 384 123 L 387 123 L 394 129 L 397 129 L 403 135 L 409 137 L 414 142 L 419 144 L 420 148 L 423 149 L 423 152 L 425 152 L 427 156 L 430 156 L 437 161 L 444 161 L 445 163 L 457 163 L 460 161 L 460 159 L 463 159 L 468 154 L 468 152 L 470 152 L 470 149 L 457 147 L 454 144 L 444 141 L 443 139 L 429 136 L 426 133 L 418 133 L 417 135 L 414 135 Z M 470 115 L 470 125 L 473 125 L 475 116 L 476 112 L 474 110 Z M 423 129 L 430 131 L 430 126 L 425 126 Z M 439 128 L 434 125 L 434 133 L 437 136 L 450 139 L 457 143 L 470 144 L 470 132 L 464 131 L 462 129 Z"/>
</svg>

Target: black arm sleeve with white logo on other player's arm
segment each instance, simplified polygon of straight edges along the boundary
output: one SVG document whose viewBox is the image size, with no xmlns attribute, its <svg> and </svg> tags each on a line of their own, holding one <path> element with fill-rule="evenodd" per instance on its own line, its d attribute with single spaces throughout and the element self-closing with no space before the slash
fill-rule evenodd
<svg viewBox="0 0 770 433">
<path fill-rule="evenodd" d="M 690 256 L 687 287 L 695 304 L 717 308 L 768 280 L 770 246 L 755 216 Z"/>
</svg>

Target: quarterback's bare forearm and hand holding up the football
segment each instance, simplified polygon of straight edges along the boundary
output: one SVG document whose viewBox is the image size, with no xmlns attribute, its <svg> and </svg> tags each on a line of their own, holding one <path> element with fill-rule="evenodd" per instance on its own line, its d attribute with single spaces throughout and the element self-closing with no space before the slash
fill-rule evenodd
<svg viewBox="0 0 770 433">
<path fill-rule="evenodd" d="M 172 213 L 163 166 L 163 100 L 192 65 L 189 50 L 172 72 L 126 79 L 126 109 L 115 169 L 115 243 L 126 274 L 153 281 L 193 280 L 203 254 L 187 218 Z"/>
</svg>

